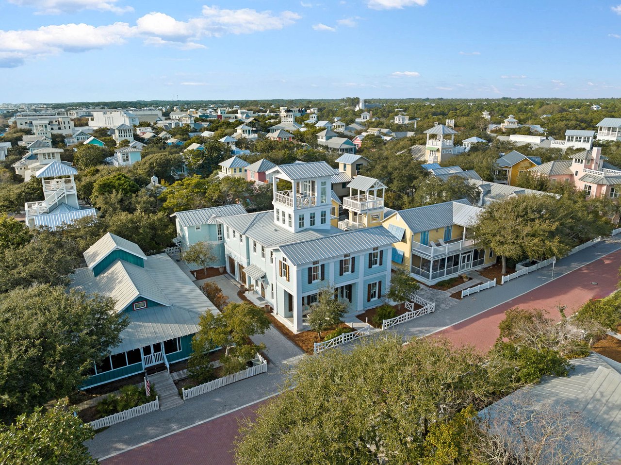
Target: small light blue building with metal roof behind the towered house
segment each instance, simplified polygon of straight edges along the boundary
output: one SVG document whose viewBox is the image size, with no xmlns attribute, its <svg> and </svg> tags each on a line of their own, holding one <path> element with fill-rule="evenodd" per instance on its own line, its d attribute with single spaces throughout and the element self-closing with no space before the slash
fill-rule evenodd
<svg viewBox="0 0 621 465">
<path fill-rule="evenodd" d="M 177 211 L 171 214 L 175 218 L 177 239 L 182 251 L 188 250 L 189 246 L 197 242 L 209 242 L 214 246 L 214 253 L 218 257 L 217 262 L 211 264 L 214 267 L 224 266 L 224 234 L 222 224 L 218 223 L 220 216 L 243 215 L 247 211 L 239 204 L 214 206 L 211 208 L 199 208 L 196 210 Z"/>
</svg>

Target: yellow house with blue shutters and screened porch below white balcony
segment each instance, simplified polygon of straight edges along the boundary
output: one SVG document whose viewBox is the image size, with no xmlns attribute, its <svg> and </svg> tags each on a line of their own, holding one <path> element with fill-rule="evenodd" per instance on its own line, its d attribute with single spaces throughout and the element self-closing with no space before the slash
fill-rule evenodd
<svg viewBox="0 0 621 465">
<path fill-rule="evenodd" d="M 477 247 L 470 231 L 481 211 L 464 199 L 391 214 L 382 225 L 397 239 L 392 266 L 432 285 L 496 263 L 496 255 Z"/>
</svg>

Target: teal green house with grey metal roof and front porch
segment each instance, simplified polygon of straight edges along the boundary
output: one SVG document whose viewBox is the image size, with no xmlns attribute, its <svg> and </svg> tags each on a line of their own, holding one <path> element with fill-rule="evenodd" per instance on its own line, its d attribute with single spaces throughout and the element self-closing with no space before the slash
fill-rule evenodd
<svg viewBox="0 0 621 465">
<path fill-rule="evenodd" d="M 115 300 L 129 326 L 110 355 L 94 365 L 83 389 L 185 360 L 199 316 L 217 308 L 166 254 L 146 256 L 134 244 L 107 233 L 84 252 L 88 267 L 71 277 L 71 288 Z"/>
</svg>

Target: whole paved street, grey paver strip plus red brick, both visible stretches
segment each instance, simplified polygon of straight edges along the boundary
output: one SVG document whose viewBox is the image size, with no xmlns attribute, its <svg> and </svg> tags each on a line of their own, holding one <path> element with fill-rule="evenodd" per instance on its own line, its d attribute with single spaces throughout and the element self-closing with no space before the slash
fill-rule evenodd
<svg viewBox="0 0 621 465">
<path fill-rule="evenodd" d="M 471 343 L 481 349 L 489 348 L 496 339 L 502 313 L 508 308 L 520 305 L 528 308 L 553 309 L 557 303 L 563 303 L 573 311 L 589 298 L 603 297 L 612 292 L 618 280 L 617 270 L 621 264 L 621 251 L 617 252 L 619 249 L 621 249 L 619 238 L 607 239 L 559 260 L 555 267 L 555 280 L 551 280 L 551 267 L 546 267 L 505 285 L 474 294 L 450 308 L 445 307 L 442 311 L 422 316 L 392 330 L 402 334 L 404 338 L 440 333 L 456 343 Z M 597 285 L 591 282 L 597 282 Z M 447 329 L 451 325 L 455 326 Z M 167 412 L 149 413 L 114 425 L 99 433 L 93 441 L 89 441 L 91 453 L 98 458 L 119 453 L 124 449 L 155 440 L 159 436 L 168 435 L 207 418 L 276 394 L 279 385 L 286 377 L 286 370 L 297 357 L 302 356 L 296 346 L 285 338 L 279 338 L 278 335 L 279 333 L 268 332 L 263 336 L 265 339 L 255 339 L 256 342 L 265 340 L 268 356 L 273 359 L 273 364 L 268 366 L 267 374 L 190 399 L 179 408 Z M 231 455 L 226 452 L 230 450 L 232 438 L 237 433 L 237 418 L 251 414 L 252 407 L 244 407 L 230 415 L 183 430 L 179 434 L 166 436 L 155 443 L 148 443 L 118 454 L 106 459 L 104 463 L 132 465 L 146 463 L 140 461 L 144 460 L 141 454 L 147 457 L 149 463 L 156 464 L 232 463 Z M 222 433 L 212 434 L 212 431 L 220 430 Z M 207 440 L 214 437 L 217 437 L 217 440 Z M 163 455 L 165 451 L 166 454 L 170 454 L 171 449 L 175 453 Z M 184 451 L 185 449 L 187 451 Z M 171 461 L 168 461 L 169 458 Z M 210 461 L 212 458 L 214 461 Z"/>
</svg>

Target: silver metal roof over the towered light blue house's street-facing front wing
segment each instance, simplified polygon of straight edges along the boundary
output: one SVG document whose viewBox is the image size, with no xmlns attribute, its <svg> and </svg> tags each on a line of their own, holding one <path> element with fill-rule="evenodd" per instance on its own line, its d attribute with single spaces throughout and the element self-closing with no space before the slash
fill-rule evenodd
<svg viewBox="0 0 621 465">
<path fill-rule="evenodd" d="M 394 241 L 392 232 L 382 226 L 376 226 L 355 231 L 342 231 L 340 234 L 311 241 L 294 242 L 280 246 L 279 249 L 293 264 L 302 265 L 347 253 L 367 251 L 373 247 L 389 246 Z"/>
</svg>

